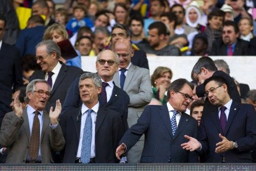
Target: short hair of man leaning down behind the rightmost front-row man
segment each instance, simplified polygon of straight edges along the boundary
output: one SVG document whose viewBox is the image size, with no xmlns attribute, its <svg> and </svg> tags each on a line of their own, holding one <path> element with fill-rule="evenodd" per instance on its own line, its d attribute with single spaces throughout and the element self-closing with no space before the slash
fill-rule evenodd
<svg viewBox="0 0 256 171">
<path fill-rule="evenodd" d="M 195 79 L 194 74 L 199 74 L 201 72 L 202 67 L 204 67 L 209 71 L 214 71 L 214 72 L 218 70 L 217 67 L 215 66 L 214 61 L 210 57 L 203 56 L 198 59 L 197 63 L 193 67 L 191 71 L 191 79 L 193 80 Z"/>
</svg>

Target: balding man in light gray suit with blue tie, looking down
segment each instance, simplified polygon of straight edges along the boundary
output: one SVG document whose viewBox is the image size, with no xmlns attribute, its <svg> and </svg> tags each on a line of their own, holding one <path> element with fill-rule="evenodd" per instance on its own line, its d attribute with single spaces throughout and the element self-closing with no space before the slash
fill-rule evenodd
<svg viewBox="0 0 256 171">
<path fill-rule="evenodd" d="M 116 86 L 123 89 L 130 97 L 127 122 L 129 127 L 137 123 L 145 105 L 152 98 L 150 72 L 134 66 L 131 57 L 134 55 L 131 42 L 119 39 L 114 45 L 114 52 L 119 56 L 119 71 L 114 75 Z M 139 163 L 144 144 L 144 136 L 134 145 L 127 155 L 129 163 Z"/>
</svg>

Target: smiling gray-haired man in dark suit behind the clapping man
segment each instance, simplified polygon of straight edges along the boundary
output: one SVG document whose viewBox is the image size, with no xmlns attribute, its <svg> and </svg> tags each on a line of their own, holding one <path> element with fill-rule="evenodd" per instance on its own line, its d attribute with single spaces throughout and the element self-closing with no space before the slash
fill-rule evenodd
<svg viewBox="0 0 256 171">
<path fill-rule="evenodd" d="M 51 87 L 51 97 L 46 105 L 46 110 L 55 106 L 57 99 L 64 102 L 67 90 L 72 81 L 82 74 L 82 70 L 73 66 L 66 66 L 59 61 L 60 49 L 53 40 L 41 41 L 36 46 L 36 59 L 42 68 L 36 70 L 31 76 L 33 79 L 45 79 Z"/>
</svg>

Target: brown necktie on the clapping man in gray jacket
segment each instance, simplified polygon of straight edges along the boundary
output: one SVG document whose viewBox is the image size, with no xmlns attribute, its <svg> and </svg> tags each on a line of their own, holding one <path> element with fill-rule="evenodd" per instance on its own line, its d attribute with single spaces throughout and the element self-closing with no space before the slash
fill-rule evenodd
<svg viewBox="0 0 256 171">
<path fill-rule="evenodd" d="M 38 119 L 38 111 L 35 111 L 32 133 L 30 137 L 29 145 L 29 156 L 32 160 L 35 160 L 38 157 L 39 152 L 39 142 L 40 142 L 40 122 Z"/>
</svg>

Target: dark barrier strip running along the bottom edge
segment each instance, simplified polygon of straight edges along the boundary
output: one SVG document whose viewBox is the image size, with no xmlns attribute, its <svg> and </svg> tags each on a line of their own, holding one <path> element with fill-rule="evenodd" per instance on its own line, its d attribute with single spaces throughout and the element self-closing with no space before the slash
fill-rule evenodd
<svg viewBox="0 0 256 171">
<path fill-rule="evenodd" d="M 0 165 L 2 171 L 15 171 L 15 170 L 91 170 L 91 171 L 150 171 L 150 170 L 174 170 L 174 171 L 185 171 L 185 170 L 198 170 L 198 171 L 238 171 L 238 170 L 256 170 L 256 164 L 209 164 L 209 163 L 170 163 L 170 164 L 2 164 Z"/>
</svg>

